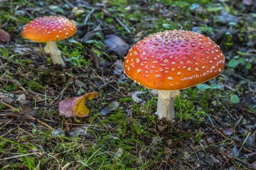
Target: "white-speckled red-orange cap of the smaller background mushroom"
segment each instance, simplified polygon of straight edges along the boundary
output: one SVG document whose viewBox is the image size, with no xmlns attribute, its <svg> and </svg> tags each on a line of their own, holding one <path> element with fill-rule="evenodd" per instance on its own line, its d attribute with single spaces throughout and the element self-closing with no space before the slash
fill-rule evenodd
<svg viewBox="0 0 256 170">
<path fill-rule="evenodd" d="M 69 38 L 77 31 L 75 24 L 62 16 L 36 18 L 23 28 L 22 36 L 36 42 L 58 41 Z"/>
</svg>

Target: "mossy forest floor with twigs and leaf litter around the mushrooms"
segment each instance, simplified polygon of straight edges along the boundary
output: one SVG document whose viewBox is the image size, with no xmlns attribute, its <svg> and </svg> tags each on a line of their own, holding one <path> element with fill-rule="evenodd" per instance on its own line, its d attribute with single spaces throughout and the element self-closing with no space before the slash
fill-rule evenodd
<svg viewBox="0 0 256 170">
<path fill-rule="evenodd" d="M 256 169 L 255 1 L 2 0 L 0 13 L 0 169 Z M 21 36 L 50 15 L 78 27 L 58 42 L 65 67 Z M 210 37 L 226 66 L 181 91 L 170 123 L 123 61 L 142 38 L 174 29 Z M 94 91 L 89 116 L 59 115 L 60 101 Z"/>
</svg>

